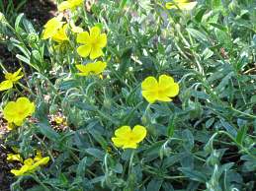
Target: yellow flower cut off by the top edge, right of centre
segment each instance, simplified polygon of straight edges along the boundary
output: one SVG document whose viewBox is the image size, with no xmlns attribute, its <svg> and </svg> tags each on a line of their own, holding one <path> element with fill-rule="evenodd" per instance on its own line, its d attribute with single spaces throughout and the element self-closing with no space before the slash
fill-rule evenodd
<svg viewBox="0 0 256 191">
<path fill-rule="evenodd" d="M 166 9 L 178 9 L 179 7 L 181 10 L 192 10 L 198 4 L 197 1 L 191 2 L 190 0 L 173 0 L 172 2 L 166 3 Z"/>
</svg>

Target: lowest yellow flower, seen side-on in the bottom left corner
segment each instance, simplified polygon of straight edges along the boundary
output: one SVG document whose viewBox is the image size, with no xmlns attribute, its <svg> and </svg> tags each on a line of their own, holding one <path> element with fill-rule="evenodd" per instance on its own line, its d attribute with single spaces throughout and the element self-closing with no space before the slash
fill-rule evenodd
<svg viewBox="0 0 256 191">
<path fill-rule="evenodd" d="M 24 164 L 20 169 L 12 169 L 11 172 L 16 176 L 22 176 L 32 173 L 38 169 L 39 166 L 47 164 L 49 157 L 42 158 L 39 160 L 35 159 L 25 159 Z"/>
</svg>

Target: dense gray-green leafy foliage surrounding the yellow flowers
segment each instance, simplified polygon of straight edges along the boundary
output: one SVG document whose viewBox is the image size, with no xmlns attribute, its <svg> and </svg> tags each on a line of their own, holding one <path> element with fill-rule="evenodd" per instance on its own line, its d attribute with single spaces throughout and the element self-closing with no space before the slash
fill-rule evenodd
<svg viewBox="0 0 256 191">
<path fill-rule="evenodd" d="M 158 0 L 99 0 L 91 14 L 76 17 L 85 17 L 84 29 L 99 23 L 108 33 L 104 80 L 75 76 L 75 42 L 52 54 L 18 17 L 9 45 L 36 69 L 27 83 L 40 122 L 14 133 L 10 144 L 25 135 L 16 140 L 25 155 L 39 142 L 31 136 L 43 138 L 42 150 L 56 156 L 42 170 L 49 190 L 255 190 L 255 7 L 253 0 L 206 0 L 182 12 Z M 161 74 L 179 82 L 180 94 L 148 105 L 140 84 Z M 47 122 L 59 108 L 69 132 Z M 114 147 L 115 129 L 135 124 L 148 131 L 139 148 Z M 22 190 L 19 181 L 13 190 Z"/>
</svg>

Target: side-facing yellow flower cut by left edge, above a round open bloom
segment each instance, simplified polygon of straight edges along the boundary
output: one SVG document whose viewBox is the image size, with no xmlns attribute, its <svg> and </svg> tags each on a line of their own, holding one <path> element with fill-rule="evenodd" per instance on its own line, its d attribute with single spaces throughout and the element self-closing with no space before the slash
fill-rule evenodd
<svg viewBox="0 0 256 191">
<path fill-rule="evenodd" d="M 6 73 L 5 81 L 0 83 L 0 91 L 6 91 L 8 89 L 13 88 L 14 83 L 19 81 L 23 77 L 23 74 L 21 73 L 21 71 L 22 71 L 22 68 L 20 68 L 15 73 Z"/>
</svg>

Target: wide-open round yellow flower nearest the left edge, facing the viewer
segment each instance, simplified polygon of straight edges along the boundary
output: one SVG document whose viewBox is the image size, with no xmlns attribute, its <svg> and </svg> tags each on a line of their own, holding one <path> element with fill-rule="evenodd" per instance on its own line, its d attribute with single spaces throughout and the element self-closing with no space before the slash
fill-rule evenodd
<svg viewBox="0 0 256 191">
<path fill-rule="evenodd" d="M 20 97 L 17 101 L 9 101 L 4 107 L 4 118 L 9 123 L 21 126 L 24 120 L 35 112 L 35 104 L 27 97 Z"/>
</svg>

